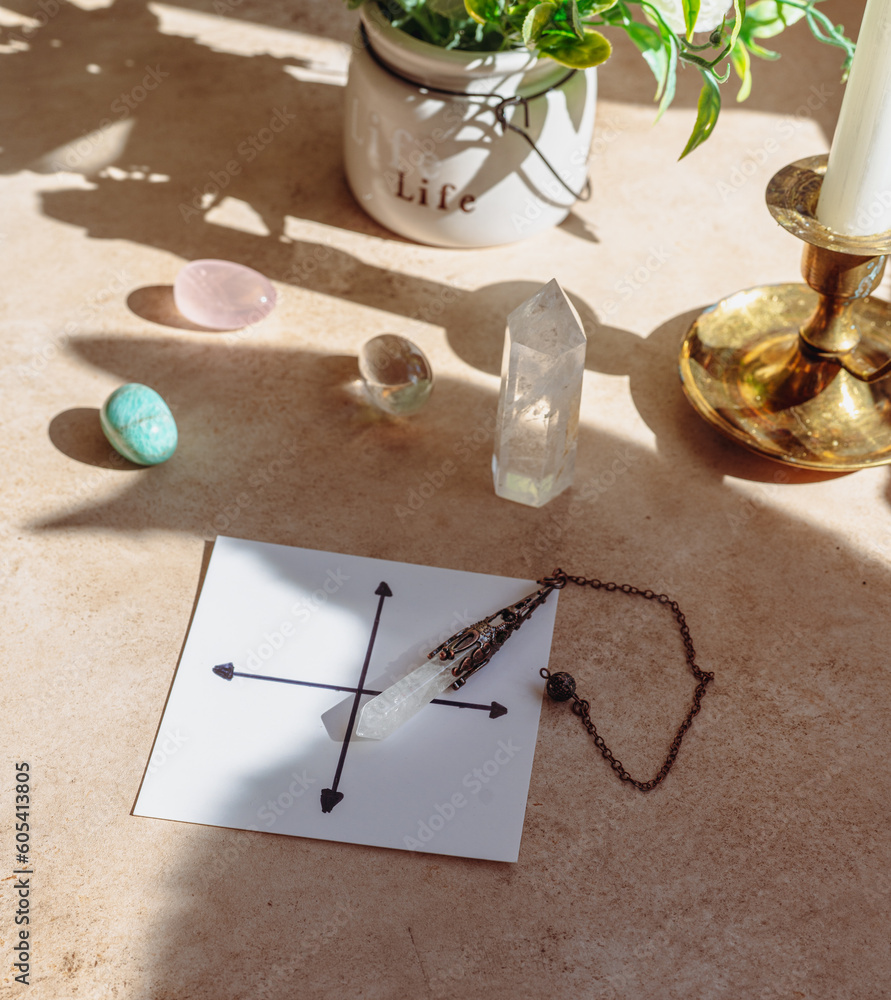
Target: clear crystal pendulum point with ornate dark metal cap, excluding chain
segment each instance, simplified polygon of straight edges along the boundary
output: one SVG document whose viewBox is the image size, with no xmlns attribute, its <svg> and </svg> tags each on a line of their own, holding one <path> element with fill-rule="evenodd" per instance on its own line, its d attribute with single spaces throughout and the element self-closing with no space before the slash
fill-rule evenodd
<svg viewBox="0 0 891 1000">
<path fill-rule="evenodd" d="M 539 590 L 456 632 L 427 654 L 427 659 L 433 662 L 413 670 L 367 702 L 359 715 L 356 735 L 369 740 L 382 740 L 446 688 L 462 687 L 471 674 L 489 662 L 532 612 L 544 604 L 551 591 L 562 586 L 550 578 L 539 582 L 542 584 Z M 458 662 L 453 662 L 456 659 Z"/>
</svg>

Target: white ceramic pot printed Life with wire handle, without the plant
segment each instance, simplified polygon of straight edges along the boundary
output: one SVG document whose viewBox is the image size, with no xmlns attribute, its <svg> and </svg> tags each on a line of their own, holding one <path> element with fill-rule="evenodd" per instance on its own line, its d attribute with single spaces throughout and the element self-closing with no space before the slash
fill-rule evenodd
<svg viewBox="0 0 891 1000">
<path fill-rule="evenodd" d="M 344 154 L 350 188 L 372 218 L 420 243 L 480 247 L 568 215 L 587 178 L 596 70 L 570 73 L 525 51 L 440 49 L 394 28 L 373 4 L 362 24 Z M 502 113 L 540 153 L 498 123 L 499 104 L 513 97 L 528 100 Z"/>
</svg>

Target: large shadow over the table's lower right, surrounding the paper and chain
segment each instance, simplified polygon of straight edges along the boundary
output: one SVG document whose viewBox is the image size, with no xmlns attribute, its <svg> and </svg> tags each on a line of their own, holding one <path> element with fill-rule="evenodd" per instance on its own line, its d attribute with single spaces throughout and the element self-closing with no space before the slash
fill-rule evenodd
<svg viewBox="0 0 891 1000">
<path fill-rule="evenodd" d="M 69 349 L 157 388 L 181 445 L 162 466 L 114 477 L 120 491 L 101 501 L 74 484 L 72 503 L 37 530 L 225 533 L 520 577 L 563 565 L 670 593 L 716 674 L 676 769 L 648 796 L 619 785 L 574 719 L 547 707 L 516 866 L 183 835 L 191 846 L 158 890 L 166 915 L 142 927 L 137 1000 L 353 996 L 370 980 L 381 997 L 434 983 L 435 995 L 470 998 L 492 968 L 499 995 L 539 996 L 576 976 L 606 989 L 630 956 L 666 983 L 692 940 L 703 975 L 723 970 L 753 994 L 786 974 L 777 942 L 805 955 L 825 945 L 832 974 L 853 974 L 859 953 L 838 944 L 835 918 L 851 866 L 875 868 L 848 824 L 874 828 L 868 789 L 886 772 L 884 717 L 865 706 L 887 700 L 873 627 L 887 559 L 723 478 L 757 460 L 683 409 L 673 372 L 659 375 L 667 354 L 647 355 L 651 371 L 644 355 L 630 365 L 658 451 L 583 427 L 575 486 L 534 510 L 492 491 L 494 385 L 441 379 L 424 411 L 397 420 L 357 400 L 353 358 L 170 336 L 81 336 Z M 670 620 L 657 632 L 654 611 L 567 591 L 550 663 L 593 689 L 597 724 L 635 774 L 661 759 L 690 695 L 676 633 Z M 150 652 L 129 655 L 149 669 Z M 256 781 L 272 797 L 280 778 Z M 178 843 L 177 829 L 193 830 L 165 824 L 163 836 Z M 870 906 L 850 911 L 851 934 Z M 642 912 L 648 933 L 664 934 L 646 959 L 635 951 Z"/>
</svg>

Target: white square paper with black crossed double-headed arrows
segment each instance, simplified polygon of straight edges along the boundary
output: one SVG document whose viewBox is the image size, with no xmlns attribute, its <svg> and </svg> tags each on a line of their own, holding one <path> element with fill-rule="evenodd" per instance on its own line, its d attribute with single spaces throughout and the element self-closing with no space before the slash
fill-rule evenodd
<svg viewBox="0 0 891 1000">
<path fill-rule="evenodd" d="M 366 657 L 362 690 L 381 691 L 535 588 L 218 538 L 134 814 L 516 861 L 556 592 L 443 696 L 467 707 L 428 705 L 385 740 L 343 737 Z M 343 796 L 330 812 L 323 789 Z"/>
</svg>

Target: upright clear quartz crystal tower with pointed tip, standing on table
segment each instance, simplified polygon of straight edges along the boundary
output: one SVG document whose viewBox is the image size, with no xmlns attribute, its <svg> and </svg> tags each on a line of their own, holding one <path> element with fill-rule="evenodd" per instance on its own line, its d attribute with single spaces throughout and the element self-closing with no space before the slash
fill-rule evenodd
<svg viewBox="0 0 891 1000">
<path fill-rule="evenodd" d="M 541 507 L 572 483 L 585 344 L 556 280 L 508 316 L 492 456 L 505 500 Z"/>
</svg>

